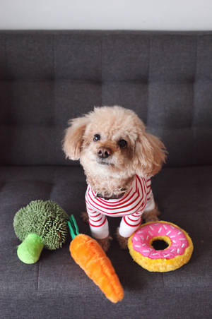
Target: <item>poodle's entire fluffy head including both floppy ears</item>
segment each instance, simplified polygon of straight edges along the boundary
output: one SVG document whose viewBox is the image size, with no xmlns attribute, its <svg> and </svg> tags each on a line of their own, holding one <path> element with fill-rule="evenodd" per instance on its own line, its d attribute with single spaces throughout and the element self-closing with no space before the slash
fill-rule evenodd
<svg viewBox="0 0 212 319">
<path fill-rule="evenodd" d="M 80 159 L 89 174 L 152 176 L 165 160 L 165 147 L 146 133 L 136 114 L 122 107 L 98 107 L 84 117 L 70 121 L 64 152 Z"/>
</svg>

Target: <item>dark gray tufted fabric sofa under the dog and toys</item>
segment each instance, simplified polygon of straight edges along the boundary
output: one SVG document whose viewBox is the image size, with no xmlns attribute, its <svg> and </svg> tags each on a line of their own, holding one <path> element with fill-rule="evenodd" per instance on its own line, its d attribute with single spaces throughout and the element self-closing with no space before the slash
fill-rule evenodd
<svg viewBox="0 0 212 319">
<path fill-rule="evenodd" d="M 125 296 L 112 304 L 69 255 L 69 242 L 18 260 L 13 216 L 51 199 L 76 216 L 86 179 L 65 159 L 68 119 L 93 106 L 134 109 L 169 155 L 152 180 L 161 219 L 194 241 L 187 265 L 151 273 L 114 238 L 108 255 Z M 211 318 L 212 32 L 0 32 L 0 317 Z M 114 236 L 119 218 L 110 219 Z"/>
</svg>

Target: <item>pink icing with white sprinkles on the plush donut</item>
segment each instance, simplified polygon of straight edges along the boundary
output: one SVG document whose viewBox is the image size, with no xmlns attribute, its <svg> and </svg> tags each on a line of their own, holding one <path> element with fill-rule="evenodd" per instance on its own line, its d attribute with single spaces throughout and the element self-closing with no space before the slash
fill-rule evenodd
<svg viewBox="0 0 212 319">
<path fill-rule="evenodd" d="M 156 251 L 151 247 L 151 239 L 158 236 L 169 237 L 171 244 L 165 250 Z M 183 255 L 185 249 L 189 246 L 189 242 L 187 241 L 184 232 L 172 224 L 165 222 L 153 222 L 144 225 L 135 232 L 131 241 L 135 251 L 138 251 L 141 255 L 151 259 L 175 258 L 177 255 Z"/>
</svg>

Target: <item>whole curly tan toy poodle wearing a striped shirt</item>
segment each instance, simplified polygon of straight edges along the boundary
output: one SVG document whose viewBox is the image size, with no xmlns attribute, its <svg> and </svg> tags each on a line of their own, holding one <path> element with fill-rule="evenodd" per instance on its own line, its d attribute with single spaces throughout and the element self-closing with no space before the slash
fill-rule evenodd
<svg viewBox="0 0 212 319">
<path fill-rule="evenodd" d="M 117 229 L 121 248 L 127 247 L 127 239 L 139 228 L 141 216 L 146 222 L 158 219 L 151 177 L 160 171 L 166 150 L 157 137 L 146 133 L 133 111 L 95 107 L 71 119 L 63 150 L 83 166 L 88 183 L 83 219 L 105 251 L 112 239 L 106 216 L 122 217 Z"/>
</svg>

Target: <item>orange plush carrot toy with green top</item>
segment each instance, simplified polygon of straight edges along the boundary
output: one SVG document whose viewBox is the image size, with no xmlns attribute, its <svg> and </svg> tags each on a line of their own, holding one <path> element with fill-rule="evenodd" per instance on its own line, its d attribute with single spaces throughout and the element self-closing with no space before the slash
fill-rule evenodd
<svg viewBox="0 0 212 319">
<path fill-rule="evenodd" d="M 73 215 L 71 215 L 68 224 L 73 239 L 69 246 L 73 260 L 98 285 L 107 299 L 113 303 L 121 301 L 124 297 L 124 291 L 105 251 L 95 239 L 85 234 L 79 234 Z"/>
</svg>

